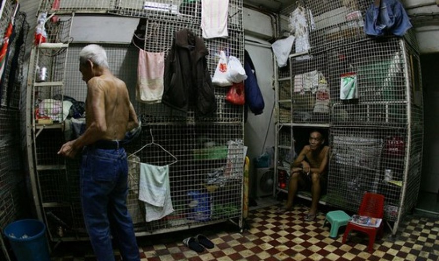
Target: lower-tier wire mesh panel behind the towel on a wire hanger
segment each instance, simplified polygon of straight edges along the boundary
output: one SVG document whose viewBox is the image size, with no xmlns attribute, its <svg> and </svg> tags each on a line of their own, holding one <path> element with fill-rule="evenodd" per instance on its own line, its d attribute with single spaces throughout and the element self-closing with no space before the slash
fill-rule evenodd
<svg viewBox="0 0 439 261">
<path fill-rule="evenodd" d="M 175 212 L 149 222 L 148 229 L 170 229 L 239 217 L 244 151 L 233 141 L 242 138 L 242 126 L 151 125 L 154 142 L 137 156 L 142 163 L 169 167 L 172 204 Z M 141 140 L 128 151 L 148 144 L 151 137 L 142 130 Z M 200 205 L 195 205 L 200 202 Z M 147 213 L 147 212 L 146 212 Z"/>
</svg>

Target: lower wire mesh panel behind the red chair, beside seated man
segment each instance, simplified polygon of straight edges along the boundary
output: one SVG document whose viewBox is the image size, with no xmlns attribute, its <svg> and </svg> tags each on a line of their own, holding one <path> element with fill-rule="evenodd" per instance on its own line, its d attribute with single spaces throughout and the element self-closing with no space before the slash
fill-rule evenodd
<svg viewBox="0 0 439 261">
<path fill-rule="evenodd" d="M 406 133 L 397 129 L 332 128 L 328 202 L 358 211 L 364 192 L 385 196 L 385 216 L 401 208 Z"/>
</svg>

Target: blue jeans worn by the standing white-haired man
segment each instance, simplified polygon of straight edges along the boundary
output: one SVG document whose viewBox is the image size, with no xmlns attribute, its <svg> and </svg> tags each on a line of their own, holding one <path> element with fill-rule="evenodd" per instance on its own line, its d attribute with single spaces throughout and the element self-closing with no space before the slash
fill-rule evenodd
<svg viewBox="0 0 439 261">
<path fill-rule="evenodd" d="M 85 226 L 98 261 L 114 261 L 113 237 L 124 261 L 140 261 L 133 221 L 128 213 L 128 162 L 119 149 L 84 148 L 80 168 L 81 203 Z"/>
</svg>

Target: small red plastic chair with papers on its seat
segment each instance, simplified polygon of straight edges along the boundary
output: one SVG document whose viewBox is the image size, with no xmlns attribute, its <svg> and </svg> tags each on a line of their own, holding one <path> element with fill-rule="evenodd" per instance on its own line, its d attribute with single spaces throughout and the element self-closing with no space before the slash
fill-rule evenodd
<svg viewBox="0 0 439 261">
<path fill-rule="evenodd" d="M 384 217 L 384 196 L 380 194 L 366 193 L 365 196 L 363 196 L 358 214 L 361 216 L 382 219 Z M 381 222 L 379 228 L 365 227 L 352 222 L 348 222 L 348 225 L 346 226 L 346 230 L 344 231 L 343 235 L 343 244 L 346 243 L 346 238 L 351 230 L 358 230 L 366 233 L 369 236 L 369 245 L 367 247 L 367 250 L 369 251 L 369 253 L 372 253 L 373 244 L 375 243 L 375 237 L 377 235 L 377 232 L 379 237 L 382 236 L 383 222 Z"/>
</svg>

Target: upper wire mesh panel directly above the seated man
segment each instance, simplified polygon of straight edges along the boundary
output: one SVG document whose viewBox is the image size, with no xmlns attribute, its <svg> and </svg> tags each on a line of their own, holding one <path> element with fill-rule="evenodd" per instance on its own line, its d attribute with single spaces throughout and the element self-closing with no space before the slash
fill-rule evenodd
<svg viewBox="0 0 439 261">
<path fill-rule="evenodd" d="M 290 59 L 293 123 L 329 123 L 327 64 L 326 53 Z"/>
</svg>

